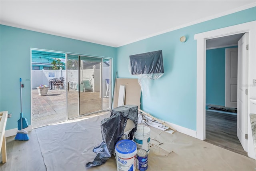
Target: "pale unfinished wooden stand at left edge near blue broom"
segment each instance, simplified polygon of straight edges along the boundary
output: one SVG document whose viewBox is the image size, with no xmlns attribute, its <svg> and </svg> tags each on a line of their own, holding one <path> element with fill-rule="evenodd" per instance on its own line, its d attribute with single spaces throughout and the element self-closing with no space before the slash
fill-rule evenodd
<svg viewBox="0 0 256 171">
<path fill-rule="evenodd" d="M 5 126 L 7 121 L 7 111 L 0 111 L 0 149 L 2 151 L 2 162 L 6 163 L 6 141 L 5 141 Z"/>
</svg>

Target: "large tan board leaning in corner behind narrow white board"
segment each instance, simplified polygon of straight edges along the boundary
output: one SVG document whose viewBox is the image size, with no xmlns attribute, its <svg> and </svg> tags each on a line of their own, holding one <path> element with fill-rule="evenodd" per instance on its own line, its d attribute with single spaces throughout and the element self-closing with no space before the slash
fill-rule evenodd
<svg viewBox="0 0 256 171">
<path fill-rule="evenodd" d="M 118 96 L 119 96 L 119 88 L 120 85 L 125 85 L 125 105 L 137 105 L 140 109 L 140 95 L 141 89 L 140 84 L 138 83 L 138 79 L 136 78 L 116 78 L 116 85 L 114 89 L 114 104 L 113 108 L 118 106 Z"/>
</svg>

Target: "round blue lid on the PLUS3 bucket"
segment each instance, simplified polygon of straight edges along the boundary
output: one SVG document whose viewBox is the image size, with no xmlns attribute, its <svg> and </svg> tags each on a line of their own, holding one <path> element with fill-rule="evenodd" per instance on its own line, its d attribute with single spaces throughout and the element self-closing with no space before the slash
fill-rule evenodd
<svg viewBox="0 0 256 171">
<path fill-rule="evenodd" d="M 121 154 L 130 154 L 137 150 L 136 143 L 130 139 L 123 139 L 116 143 L 116 151 Z"/>
</svg>

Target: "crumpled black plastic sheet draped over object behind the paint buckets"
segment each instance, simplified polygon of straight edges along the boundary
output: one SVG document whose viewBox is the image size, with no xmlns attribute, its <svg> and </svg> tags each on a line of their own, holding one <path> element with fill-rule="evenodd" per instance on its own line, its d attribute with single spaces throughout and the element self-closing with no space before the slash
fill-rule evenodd
<svg viewBox="0 0 256 171">
<path fill-rule="evenodd" d="M 101 134 L 103 142 L 92 150 L 96 153 L 94 161 L 86 163 L 85 167 L 99 166 L 106 162 L 114 154 L 115 145 L 124 134 L 127 119 L 131 119 L 135 128 L 130 131 L 129 137 L 133 137 L 138 125 L 138 106 L 123 105 L 112 109 L 109 118 L 101 121 Z"/>
</svg>

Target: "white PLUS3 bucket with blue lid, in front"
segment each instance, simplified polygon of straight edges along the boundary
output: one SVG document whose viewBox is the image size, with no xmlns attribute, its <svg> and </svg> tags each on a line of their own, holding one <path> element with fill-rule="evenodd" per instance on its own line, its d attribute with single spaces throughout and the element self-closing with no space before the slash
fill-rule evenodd
<svg viewBox="0 0 256 171">
<path fill-rule="evenodd" d="M 117 171 L 135 171 L 136 156 L 136 143 L 129 139 L 118 141 L 115 148 Z"/>
</svg>

